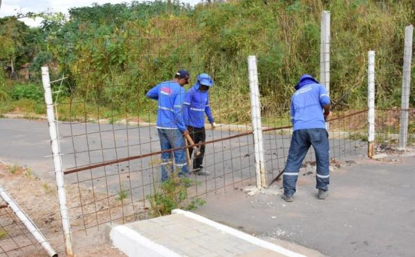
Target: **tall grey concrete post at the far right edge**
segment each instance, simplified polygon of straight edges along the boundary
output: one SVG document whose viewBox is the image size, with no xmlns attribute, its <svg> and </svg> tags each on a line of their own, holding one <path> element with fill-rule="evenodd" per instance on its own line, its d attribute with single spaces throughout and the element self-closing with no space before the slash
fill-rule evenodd
<svg viewBox="0 0 415 257">
<path fill-rule="evenodd" d="M 405 27 L 405 48 L 403 50 L 403 77 L 400 111 L 399 146 L 400 151 L 406 150 L 409 119 L 409 88 L 411 88 L 412 34 L 414 26 Z"/>
</svg>

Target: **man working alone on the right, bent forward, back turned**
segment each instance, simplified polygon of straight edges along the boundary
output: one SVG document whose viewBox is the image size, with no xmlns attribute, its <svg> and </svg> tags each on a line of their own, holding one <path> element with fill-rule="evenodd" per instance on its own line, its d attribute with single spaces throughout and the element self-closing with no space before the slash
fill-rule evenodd
<svg viewBox="0 0 415 257">
<path fill-rule="evenodd" d="M 317 166 L 318 198 L 324 200 L 329 190 L 329 134 L 325 128 L 330 113 L 330 97 L 326 88 L 311 75 L 302 75 L 291 98 L 293 137 L 284 169 L 282 198 L 293 202 L 298 171 L 312 145 Z"/>
</svg>

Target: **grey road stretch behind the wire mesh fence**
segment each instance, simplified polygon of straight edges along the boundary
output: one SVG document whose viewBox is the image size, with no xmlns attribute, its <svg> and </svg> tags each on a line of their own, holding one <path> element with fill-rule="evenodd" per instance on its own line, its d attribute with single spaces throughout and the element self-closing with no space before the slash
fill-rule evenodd
<svg viewBox="0 0 415 257">
<path fill-rule="evenodd" d="M 207 140 L 221 139 L 237 133 L 224 130 L 207 131 Z M 64 169 L 160 151 L 154 126 L 61 122 L 59 136 Z M 30 166 L 42 179 L 55 179 L 51 158 L 45 158 L 51 154 L 47 122 L 0 119 L 0 142 L 3 144 L 0 160 Z M 289 135 L 264 134 L 268 178 L 283 169 L 288 147 Z M 331 140 L 332 156 L 344 157 L 351 152 L 356 153 L 355 142 Z M 306 160 L 313 160 L 313 151 Z M 159 163 L 159 156 L 154 155 L 93 171 L 65 175 L 65 182 L 79 182 L 84 188 L 110 194 L 118 193 L 121 188 L 132 187 L 131 193 L 135 198 L 144 199 L 151 192 L 151 184 L 160 179 Z M 211 175 L 194 176 L 194 179 L 201 182 L 198 194 L 216 191 L 243 180 L 246 183 L 255 183 L 252 135 L 208 144 L 204 165 Z"/>
</svg>

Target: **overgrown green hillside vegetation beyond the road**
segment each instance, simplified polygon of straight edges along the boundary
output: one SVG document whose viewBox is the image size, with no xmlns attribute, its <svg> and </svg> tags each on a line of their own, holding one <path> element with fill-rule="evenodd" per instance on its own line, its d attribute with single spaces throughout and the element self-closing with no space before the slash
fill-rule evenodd
<svg viewBox="0 0 415 257">
<path fill-rule="evenodd" d="M 219 122 L 244 122 L 250 119 L 246 57 L 257 55 L 263 115 L 286 114 L 299 75 L 320 75 L 322 10 L 331 12 L 331 97 L 351 90 L 344 107 L 366 106 L 367 51 L 375 50 L 377 104 L 399 106 L 404 28 L 415 24 L 414 1 L 240 0 L 194 7 L 133 1 L 72 8 L 68 20 L 37 14 L 44 21 L 35 29 L 1 18 L 0 63 L 9 71 L 0 73 L 6 103 L 0 112 L 44 112 L 34 88 L 42 89 L 39 68 L 48 65 L 51 80 L 68 77 L 53 84 L 62 119 L 116 122 L 145 114 L 153 120 L 156 105 L 145 92 L 187 68 L 192 79 L 201 72 L 214 77 L 211 102 Z M 28 88 L 5 79 L 12 64 L 26 62 Z"/>
</svg>

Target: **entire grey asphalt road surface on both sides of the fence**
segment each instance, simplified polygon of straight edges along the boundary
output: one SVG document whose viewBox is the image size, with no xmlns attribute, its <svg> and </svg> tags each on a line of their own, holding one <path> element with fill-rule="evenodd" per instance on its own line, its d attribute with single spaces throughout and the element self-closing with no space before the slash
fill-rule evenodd
<svg viewBox="0 0 415 257">
<path fill-rule="evenodd" d="M 207 140 L 236 133 L 208 131 Z M 60 124 L 59 135 L 65 169 L 159 150 L 154 127 Z M 40 178 L 54 180 L 47 122 L 0 119 L 0 142 L 1 161 L 30 166 Z M 332 156 L 349 160 L 350 154 L 365 153 L 365 148 L 356 148 L 355 143 L 331 140 Z M 268 178 L 284 167 L 288 146 L 286 135 L 264 135 Z M 286 203 L 280 195 L 247 196 L 241 191 L 247 184 L 255 184 L 255 178 L 247 184 L 237 183 L 255 177 L 253 152 L 250 136 L 208 146 L 205 166 L 212 175 L 196 176 L 206 181 L 199 190 L 234 186 L 226 193 L 218 190 L 210 194 L 208 204 L 199 213 L 257 236 L 288 240 L 327 256 L 415 256 L 414 157 L 396 161 L 355 159 L 357 164 L 344 165 L 331 173 L 330 195 L 324 201 L 316 198 L 313 174 L 301 175 L 295 201 Z M 313 161 L 312 151 L 306 160 Z M 151 190 L 144 184 L 157 179 L 153 177 L 159 173 L 157 166 L 156 158 L 143 158 L 66 175 L 65 181 L 103 192 L 106 188 L 116 192 L 120 184 L 131 182 L 141 187 L 142 193 L 135 194 L 142 198 Z M 273 190 L 280 194 L 278 185 Z"/>
</svg>

